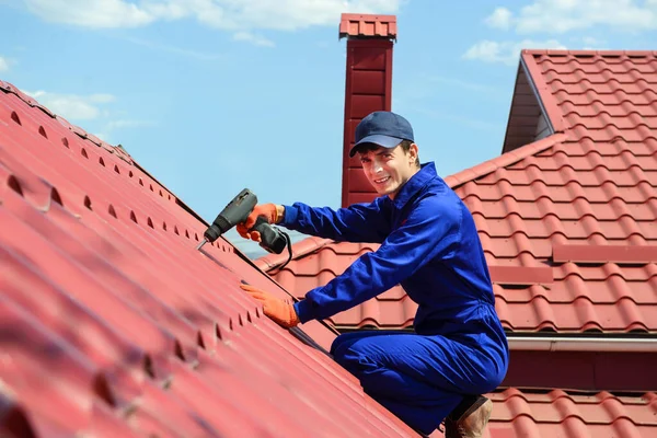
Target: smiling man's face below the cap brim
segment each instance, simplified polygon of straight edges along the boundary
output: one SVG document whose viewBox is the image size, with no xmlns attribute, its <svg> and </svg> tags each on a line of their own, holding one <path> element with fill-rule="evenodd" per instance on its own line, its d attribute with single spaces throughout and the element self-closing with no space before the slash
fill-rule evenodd
<svg viewBox="0 0 657 438">
<path fill-rule="evenodd" d="M 417 172 L 415 160 L 417 146 L 412 145 L 408 152 L 401 146 L 394 148 L 379 147 L 373 151 L 360 153 L 360 162 L 365 176 L 379 195 L 388 195 L 394 199 L 402 186 Z"/>
</svg>

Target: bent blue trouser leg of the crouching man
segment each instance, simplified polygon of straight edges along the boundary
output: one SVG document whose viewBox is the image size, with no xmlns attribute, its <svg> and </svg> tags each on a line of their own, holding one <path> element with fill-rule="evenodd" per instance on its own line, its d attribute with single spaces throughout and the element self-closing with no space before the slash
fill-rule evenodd
<svg viewBox="0 0 657 438">
<path fill-rule="evenodd" d="M 403 332 L 354 332 L 331 347 L 335 360 L 360 380 L 365 392 L 411 427 L 435 430 L 463 400 L 491 391 L 492 364 L 443 336 Z"/>
</svg>

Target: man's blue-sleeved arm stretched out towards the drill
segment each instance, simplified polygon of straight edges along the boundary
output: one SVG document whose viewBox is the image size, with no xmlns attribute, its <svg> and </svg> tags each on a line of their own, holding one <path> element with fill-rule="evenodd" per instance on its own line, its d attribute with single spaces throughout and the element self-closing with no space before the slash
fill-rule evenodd
<svg viewBox="0 0 657 438">
<path fill-rule="evenodd" d="M 302 203 L 284 206 L 280 224 L 290 230 L 324 239 L 381 243 L 390 233 L 390 211 L 383 198 L 354 204 L 337 210 Z"/>
</svg>

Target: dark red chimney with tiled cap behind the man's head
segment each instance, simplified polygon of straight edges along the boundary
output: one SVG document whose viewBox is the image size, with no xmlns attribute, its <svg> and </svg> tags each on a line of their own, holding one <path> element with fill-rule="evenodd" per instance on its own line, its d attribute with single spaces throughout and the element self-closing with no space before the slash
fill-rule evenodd
<svg viewBox="0 0 657 438">
<path fill-rule="evenodd" d="M 392 45 L 395 15 L 342 14 L 339 37 L 347 38 L 342 206 L 369 203 L 376 196 L 358 157 L 349 158 L 358 123 L 373 111 L 391 111 Z"/>
</svg>

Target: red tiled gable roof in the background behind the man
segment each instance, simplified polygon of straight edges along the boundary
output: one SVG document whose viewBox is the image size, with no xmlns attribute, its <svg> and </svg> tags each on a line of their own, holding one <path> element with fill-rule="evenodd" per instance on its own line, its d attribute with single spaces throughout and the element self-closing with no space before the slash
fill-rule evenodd
<svg viewBox="0 0 657 438">
<path fill-rule="evenodd" d="M 505 327 L 657 332 L 657 53 L 523 50 L 519 71 L 509 126 L 535 140 L 517 147 L 509 127 L 505 153 L 446 178 L 476 221 Z M 523 105 L 539 111 L 518 118 Z M 378 247 L 308 246 L 280 272 L 280 257 L 257 264 L 301 297 Z M 397 289 L 331 321 L 404 327 L 414 312 Z"/>
</svg>

